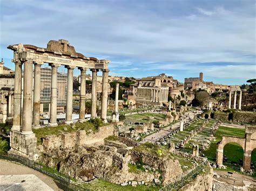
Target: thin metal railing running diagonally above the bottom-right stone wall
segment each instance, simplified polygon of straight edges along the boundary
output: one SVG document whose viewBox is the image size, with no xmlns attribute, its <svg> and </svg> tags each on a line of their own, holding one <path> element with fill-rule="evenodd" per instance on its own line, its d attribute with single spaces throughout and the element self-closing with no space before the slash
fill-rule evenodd
<svg viewBox="0 0 256 191">
<path fill-rule="evenodd" d="M 169 183 L 169 185 L 164 186 L 163 188 L 159 189 L 159 191 L 164 191 L 164 190 L 172 190 L 176 189 L 179 186 L 184 185 L 184 183 L 189 180 L 192 176 L 196 175 L 197 173 L 201 172 L 205 166 L 207 166 L 208 161 L 205 160 L 204 162 L 201 162 L 198 166 L 194 167 L 190 171 L 188 171 L 186 174 L 178 176 L 174 179 L 172 179 Z"/>
</svg>

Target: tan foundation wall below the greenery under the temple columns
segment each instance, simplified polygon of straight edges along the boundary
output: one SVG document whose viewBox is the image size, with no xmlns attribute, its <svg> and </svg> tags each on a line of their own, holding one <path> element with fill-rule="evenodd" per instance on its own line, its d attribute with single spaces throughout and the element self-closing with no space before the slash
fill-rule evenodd
<svg viewBox="0 0 256 191">
<path fill-rule="evenodd" d="M 112 136 L 114 126 L 112 124 L 102 126 L 96 133 L 86 133 L 85 130 L 79 130 L 61 135 L 51 135 L 43 138 L 43 147 L 52 148 L 72 148 L 74 146 L 90 145 L 94 143 L 104 143 L 106 137 Z"/>
</svg>

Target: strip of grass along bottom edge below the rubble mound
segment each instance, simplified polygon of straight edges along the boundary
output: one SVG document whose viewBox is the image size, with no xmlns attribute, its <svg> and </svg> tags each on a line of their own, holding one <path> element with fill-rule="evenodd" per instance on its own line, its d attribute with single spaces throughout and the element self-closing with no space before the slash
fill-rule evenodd
<svg viewBox="0 0 256 191">
<path fill-rule="evenodd" d="M 126 191 L 126 190 L 159 190 L 160 186 L 146 186 L 146 185 L 137 185 L 137 187 L 132 187 L 131 185 L 121 186 L 116 185 L 115 183 L 107 182 L 104 180 L 95 180 L 91 183 L 84 183 L 83 187 L 90 190 L 107 190 L 107 191 Z"/>
</svg>

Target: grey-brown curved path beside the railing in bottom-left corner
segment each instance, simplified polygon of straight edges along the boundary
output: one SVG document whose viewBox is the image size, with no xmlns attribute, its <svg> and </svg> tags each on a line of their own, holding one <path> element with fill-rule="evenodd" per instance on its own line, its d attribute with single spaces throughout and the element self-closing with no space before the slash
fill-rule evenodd
<svg viewBox="0 0 256 191">
<path fill-rule="evenodd" d="M 0 159 L 0 175 L 17 174 L 34 174 L 44 183 L 46 183 L 46 185 L 51 187 L 53 190 L 62 190 L 57 187 L 56 183 L 49 176 L 46 176 L 45 174 L 35 171 L 32 168 Z"/>
</svg>

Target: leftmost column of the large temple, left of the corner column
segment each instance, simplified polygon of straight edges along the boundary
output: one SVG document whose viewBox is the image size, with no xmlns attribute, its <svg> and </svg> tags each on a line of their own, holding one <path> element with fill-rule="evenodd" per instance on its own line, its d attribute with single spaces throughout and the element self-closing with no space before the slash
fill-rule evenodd
<svg viewBox="0 0 256 191">
<path fill-rule="evenodd" d="M 21 97 L 22 97 L 22 62 L 15 60 L 14 78 L 14 117 L 12 119 L 12 131 L 21 130 Z"/>
</svg>

